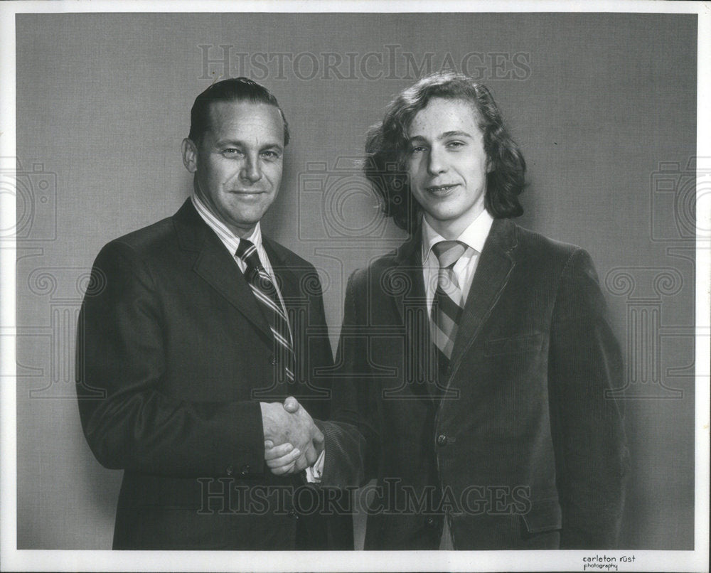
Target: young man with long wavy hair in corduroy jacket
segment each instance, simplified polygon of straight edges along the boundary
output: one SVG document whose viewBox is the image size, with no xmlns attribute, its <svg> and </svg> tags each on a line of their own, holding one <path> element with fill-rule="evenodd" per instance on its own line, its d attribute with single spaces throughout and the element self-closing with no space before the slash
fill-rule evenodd
<svg viewBox="0 0 711 573">
<path fill-rule="evenodd" d="M 491 94 L 425 77 L 366 154 L 410 239 L 348 282 L 322 483 L 377 480 L 366 549 L 615 547 L 619 346 L 587 252 L 511 220 L 525 163 Z"/>
</svg>

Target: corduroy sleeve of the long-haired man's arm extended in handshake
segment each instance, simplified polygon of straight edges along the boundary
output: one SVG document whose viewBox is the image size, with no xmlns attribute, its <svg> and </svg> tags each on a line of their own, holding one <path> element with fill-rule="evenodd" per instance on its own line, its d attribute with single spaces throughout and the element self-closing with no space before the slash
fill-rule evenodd
<svg viewBox="0 0 711 573">
<path fill-rule="evenodd" d="M 356 271 L 348 279 L 333 377 L 331 420 L 319 422 L 326 439 L 321 478 L 324 486 L 360 487 L 375 476 L 378 401 L 375 382 L 368 377 L 368 328 L 360 319 L 365 315 L 363 305 L 367 304 L 365 287 L 365 272 L 358 276 Z"/>
</svg>

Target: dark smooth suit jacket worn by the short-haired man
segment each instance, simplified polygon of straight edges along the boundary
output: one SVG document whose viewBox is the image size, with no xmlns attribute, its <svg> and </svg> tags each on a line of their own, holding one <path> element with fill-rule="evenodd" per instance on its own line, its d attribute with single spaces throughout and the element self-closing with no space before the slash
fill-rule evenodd
<svg viewBox="0 0 711 573">
<path fill-rule="evenodd" d="M 299 517 L 315 507 L 292 503 L 302 479 L 264 465 L 259 402 L 301 395 L 328 416 L 330 382 L 316 370 L 333 360 L 314 267 L 266 238 L 264 249 L 292 314 L 301 383 L 289 387 L 274 384 L 272 334 L 244 275 L 190 200 L 98 255 L 77 395 L 95 456 L 124 469 L 114 548 L 353 547 L 349 515 L 328 528 Z"/>
</svg>

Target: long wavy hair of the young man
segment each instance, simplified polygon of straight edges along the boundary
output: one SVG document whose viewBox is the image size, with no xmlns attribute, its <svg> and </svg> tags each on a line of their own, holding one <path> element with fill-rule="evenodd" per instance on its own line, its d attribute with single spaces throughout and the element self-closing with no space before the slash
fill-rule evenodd
<svg viewBox="0 0 711 573">
<path fill-rule="evenodd" d="M 491 92 L 466 75 L 446 72 L 428 75 L 400 92 L 387 107 L 383 122 L 370 128 L 365 140 L 365 176 L 383 198 L 383 213 L 395 225 L 412 233 L 419 226 L 422 208 L 410 193 L 405 161 L 410 154 L 410 122 L 429 100 L 439 97 L 470 102 L 491 171 L 486 174 L 486 210 L 494 218 L 523 214 L 518 196 L 525 188 L 526 164 L 513 141 Z"/>
</svg>

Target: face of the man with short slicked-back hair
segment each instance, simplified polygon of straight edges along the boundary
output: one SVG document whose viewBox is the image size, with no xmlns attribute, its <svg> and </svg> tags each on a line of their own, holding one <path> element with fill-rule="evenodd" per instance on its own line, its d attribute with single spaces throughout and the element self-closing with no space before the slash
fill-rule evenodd
<svg viewBox="0 0 711 573">
<path fill-rule="evenodd" d="M 196 193 L 238 236 L 249 235 L 277 198 L 283 155 L 282 116 L 262 103 L 215 102 L 201 141 L 183 141 Z"/>
</svg>

